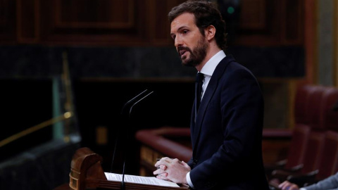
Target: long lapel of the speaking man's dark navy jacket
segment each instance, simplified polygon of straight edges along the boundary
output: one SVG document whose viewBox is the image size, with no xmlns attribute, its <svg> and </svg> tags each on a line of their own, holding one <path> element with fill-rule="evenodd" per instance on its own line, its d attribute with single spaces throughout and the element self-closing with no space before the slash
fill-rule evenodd
<svg viewBox="0 0 338 190">
<path fill-rule="evenodd" d="M 204 120 L 204 116 L 206 113 L 206 107 L 208 106 L 208 103 L 210 102 L 211 98 L 213 97 L 213 94 L 215 93 L 216 88 L 218 87 L 218 82 L 220 80 L 220 77 L 222 77 L 225 68 L 232 61 L 234 61 L 234 58 L 230 55 L 223 58 L 223 60 L 220 61 L 220 63 L 218 63 L 217 67 L 215 68 L 215 71 L 213 72 L 213 75 L 211 76 L 211 80 L 208 84 L 208 87 L 206 88 L 206 92 L 199 106 L 199 113 L 197 114 L 197 118 L 195 118 L 196 122 L 194 124 L 194 136 L 193 136 L 194 150 L 198 143 L 199 134 L 201 131 L 201 124 Z"/>
</svg>

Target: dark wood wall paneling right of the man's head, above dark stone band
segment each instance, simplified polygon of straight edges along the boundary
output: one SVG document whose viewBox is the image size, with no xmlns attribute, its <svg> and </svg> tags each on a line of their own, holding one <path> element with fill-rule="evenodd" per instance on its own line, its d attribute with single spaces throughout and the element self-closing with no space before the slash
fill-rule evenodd
<svg viewBox="0 0 338 190">
<path fill-rule="evenodd" d="M 241 1 L 235 45 L 303 45 L 303 0 Z"/>
</svg>

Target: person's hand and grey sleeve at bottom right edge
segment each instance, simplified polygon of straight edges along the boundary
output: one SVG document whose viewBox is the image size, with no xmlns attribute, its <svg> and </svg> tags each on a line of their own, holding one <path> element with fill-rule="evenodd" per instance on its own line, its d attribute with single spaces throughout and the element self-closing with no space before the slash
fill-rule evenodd
<svg viewBox="0 0 338 190">
<path fill-rule="evenodd" d="M 331 175 L 318 183 L 304 186 L 299 189 L 299 186 L 289 181 L 284 181 L 278 186 L 282 190 L 327 190 L 338 189 L 338 172 L 335 175 Z"/>
</svg>

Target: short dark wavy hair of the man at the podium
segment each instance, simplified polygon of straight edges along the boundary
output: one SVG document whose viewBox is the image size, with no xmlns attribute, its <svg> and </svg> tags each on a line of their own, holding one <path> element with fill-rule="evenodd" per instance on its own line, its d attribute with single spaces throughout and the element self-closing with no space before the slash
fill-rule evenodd
<svg viewBox="0 0 338 190">
<path fill-rule="evenodd" d="M 213 25 L 216 29 L 215 40 L 220 49 L 225 50 L 227 47 L 227 34 L 225 33 L 225 21 L 218 11 L 217 6 L 212 2 L 188 0 L 175 6 L 168 13 L 169 22 L 172 23 L 177 16 L 182 13 L 192 13 L 195 16 L 195 24 L 199 31 L 204 35 L 204 29 Z"/>
</svg>

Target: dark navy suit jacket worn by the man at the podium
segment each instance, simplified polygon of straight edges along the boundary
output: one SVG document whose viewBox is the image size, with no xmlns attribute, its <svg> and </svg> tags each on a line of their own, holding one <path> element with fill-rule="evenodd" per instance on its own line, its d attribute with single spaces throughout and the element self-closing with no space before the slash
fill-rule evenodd
<svg viewBox="0 0 338 190">
<path fill-rule="evenodd" d="M 194 189 L 267 190 L 262 158 L 263 95 L 256 77 L 227 55 L 213 72 L 199 112 L 192 108 Z"/>
</svg>

